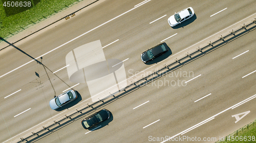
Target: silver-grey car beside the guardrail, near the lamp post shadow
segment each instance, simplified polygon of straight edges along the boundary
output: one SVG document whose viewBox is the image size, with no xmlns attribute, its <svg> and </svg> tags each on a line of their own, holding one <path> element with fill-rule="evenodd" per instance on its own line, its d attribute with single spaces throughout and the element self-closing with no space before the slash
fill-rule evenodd
<svg viewBox="0 0 256 143">
<path fill-rule="evenodd" d="M 71 101 L 74 101 L 76 98 L 77 98 L 76 92 L 74 90 L 70 90 L 70 91 L 67 91 L 66 93 L 63 93 L 63 94 L 53 98 L 49 102 L 49 104 L 53 110 L 56 110 L 64 105 L 70 103 Z"/>
</svg>

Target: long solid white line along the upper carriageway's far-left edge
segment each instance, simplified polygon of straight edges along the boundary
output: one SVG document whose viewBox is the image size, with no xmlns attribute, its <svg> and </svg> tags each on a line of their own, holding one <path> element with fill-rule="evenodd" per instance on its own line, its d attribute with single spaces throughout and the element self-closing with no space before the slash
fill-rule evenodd
<svg viewBox="0 0 256 143">
<path fill-rule="evenodd" d="M 126 13 L 128 13 L 128 12 L 130 12 L 130 11 L 132 11 L 132 10 L 135 10 L 136 8 L 142 6 L 142 5 L 144 5 L 144 4 L 146 4 L 146 3 L 150 2 L 150 1 L 151 1 L 151 0 L 148 0 L 148 1 L 146 1 L 145 3 L 143 3 L 143 4 L 141 4 L 141 5 L 137 6 L 137 7 L 134 7 L 134 8 L 132 8 L 132 9 L 130 9 L 129 11 L 126 11 L 126 12 L 124 12 L 124 13 L 122 13 L 122 14 L 116 16 L 115 18 L 112 18 L 112 19 L 110 19 L 109 21 L 106 21 L 106 22 L 104 22 L 104 23 L 98 25 L 97 27 L 91 29 L 90 31 L 88 31 L 88 32 L 86 32 L 86 33 L 84 33 L 84 34 L 82 34 L 82 35 L 77 36 L 76 38 L 74 38 L 74 39 L 72 39 L 72 40 L 70 40 L 70 41 L 68 41 L 68 42 L 66 42 L 66 43 L 64 43 L 64 44 L 62 44 L 62 45 L 60 45 L 60 46 L 58 46 L 58 47 L 56 47 L 56 48 L 54 48 L 54 49 L 52 49 L 52 50 L 50 50 L 50 51 L 44 53 L 44 54 L 42 54 L 42 55 L 40 55 L 40 56 L 38 56 L 38 57 L 35 58 L 35 59 L 39 59 L 40 57 L 42 57 L 42 56 L 44 56 L 44 55 L 46 55 L 46 54 L 48 54 L 48 53 L 50 53 L 50 52 L 52 52 L 52 51 L 58 49 L 58 48 L 60 48 L 60 47 L 62 47 L 62 46 L 64 46 L 64 45 L 66 45 L 66 44 L 68 44 L 68 43 L 70 43 L 70 42 L 72 42 L 72 41 L 74 41 L 74 40 L 76 40 L 76 39 L 78 39 L 78 38 L 80 38 L 80 37 L 82 37 L 82 36 L 84 36 L 84 35 L 90 33 L 90 32 L 92 32 L 92 31 L 94 31 L 94 30 L 96 30 L 98 27 L 101 27 L 102 25 L 104 25 L 104 24 L 106 24 L 106 23 L 109 23 L 109 22 L 115 20 L 116 18 L 118 18 L 118 17 L 120 17 L 120 16 L 122 16 L 122 15 L 124 15 L 124 14 L 126 14 Z M 0 78 L 3 77 L 3 76 L 6 76 L 7 74 L 9 74 L 9 73 L 11 73 L 11 72 L 13 72 L 13 71 L 15 71 L 15 70 L 17 70 L 17 69 L 19 69 L 19 68 L 22 68 L 23 66 L 28 65 L 29 63 L 31 63 L 31 62 L 33 62 L 33 61 L 34 61 L 34 60 L 31 60 L 31 61 L 29 61 L 28 63 L 25 63 L 25 64 L 23 64 L 23 65 L 21 65 L 21 66 L 15 68 L 15 69 L 9 71 L 9 72 L 6 73 L 6 74 L 1 75 Z"/>
</svg>

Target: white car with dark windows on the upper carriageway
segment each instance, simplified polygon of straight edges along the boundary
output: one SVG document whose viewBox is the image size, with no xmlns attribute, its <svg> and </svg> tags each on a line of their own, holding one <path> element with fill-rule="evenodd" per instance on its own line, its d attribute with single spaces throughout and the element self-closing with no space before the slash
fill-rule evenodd
<svg viewBox="0 0 256 143">
<path fill-rule="evenodd" d="M 175 26 L 189 18 L 191 18 L 195 14 L 193 8 L 186 8 L 168 18 L 168 23 L 170 26 Z"/>
</svg>

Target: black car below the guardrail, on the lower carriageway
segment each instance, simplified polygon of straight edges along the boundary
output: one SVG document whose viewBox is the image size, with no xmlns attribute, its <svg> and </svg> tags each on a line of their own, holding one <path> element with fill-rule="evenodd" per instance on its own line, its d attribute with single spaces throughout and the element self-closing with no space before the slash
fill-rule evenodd
<svg viewBox="0 0 256 143">
<path fill-rule="evenodd" d="M 102 109 L 93 115 L 87 117 L 86 119 L 82 120 L 82 126 L 84 129 L 89 129 L 107 119 L 110 118 L 110 111 L 107 109 Z"/>
</svg>

